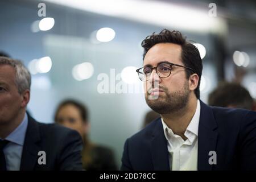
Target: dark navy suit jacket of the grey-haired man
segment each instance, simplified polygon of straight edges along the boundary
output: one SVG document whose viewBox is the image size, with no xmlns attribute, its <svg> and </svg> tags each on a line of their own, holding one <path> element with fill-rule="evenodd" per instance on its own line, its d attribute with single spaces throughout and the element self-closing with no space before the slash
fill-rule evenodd
<svg viewBox="0 0 256 182">
<path fill-rule="evenodd" d="M 82 139 L 75 130 L 36 122 L 28 115 L 28 127 L 20 171 L 71 171 L 82 169 Z M 39 164 L 39 151 L 46 152 L 46 164 Z"/>
</svg>

